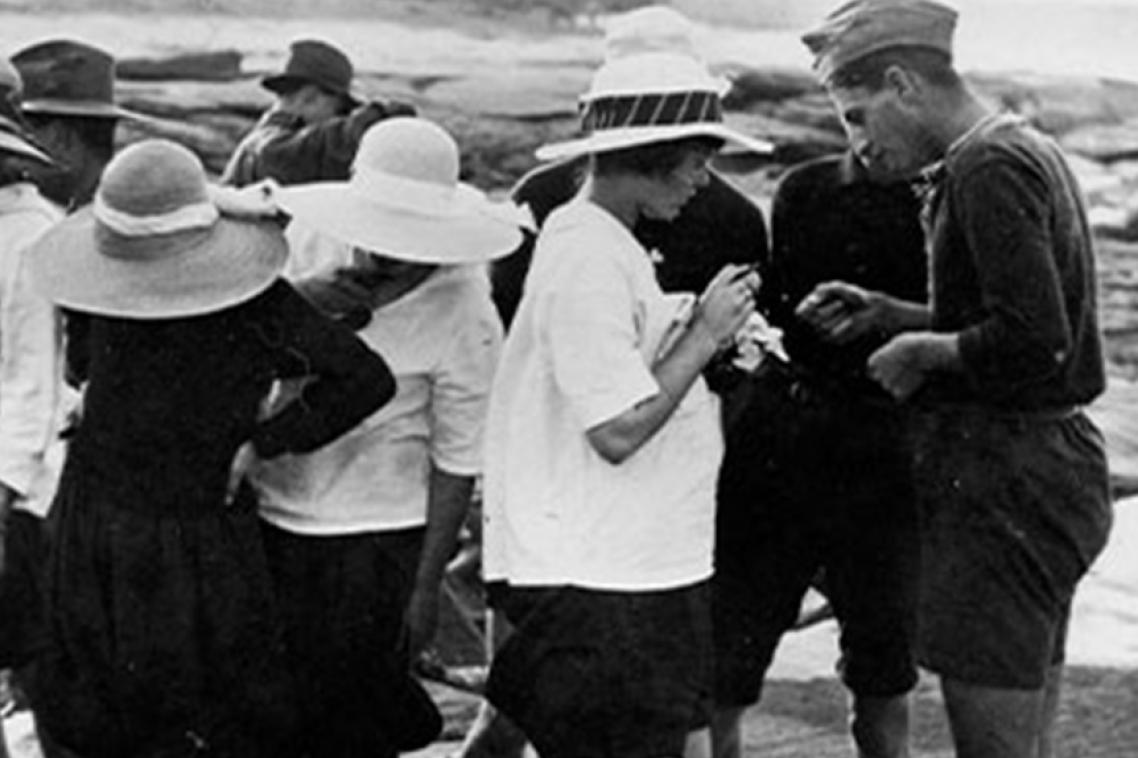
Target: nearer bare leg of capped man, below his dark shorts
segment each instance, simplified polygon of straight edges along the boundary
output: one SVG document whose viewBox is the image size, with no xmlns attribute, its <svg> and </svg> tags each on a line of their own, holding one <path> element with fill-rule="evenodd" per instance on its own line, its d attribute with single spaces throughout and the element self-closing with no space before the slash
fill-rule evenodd
<svg viewBox="0 0 1138 758">
<path fill-rule="evenodd" d="M 1037 758 L 1044 689 L 1007 690 L 941 678 L 957 758 Z"/>
</svg>

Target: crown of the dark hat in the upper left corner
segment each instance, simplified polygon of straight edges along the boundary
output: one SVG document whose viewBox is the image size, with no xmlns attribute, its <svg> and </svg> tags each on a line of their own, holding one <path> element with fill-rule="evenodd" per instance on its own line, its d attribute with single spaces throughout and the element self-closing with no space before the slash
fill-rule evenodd
<svg viewBox="0 0 1138 758">
<path fill-rule="evenodd" d="M 74 40 L 51 40 L 11 57 L 24 82 L 23 99 L 97 101 L 115 99 L 115 59 L 99 48 Z"/>
</svg>

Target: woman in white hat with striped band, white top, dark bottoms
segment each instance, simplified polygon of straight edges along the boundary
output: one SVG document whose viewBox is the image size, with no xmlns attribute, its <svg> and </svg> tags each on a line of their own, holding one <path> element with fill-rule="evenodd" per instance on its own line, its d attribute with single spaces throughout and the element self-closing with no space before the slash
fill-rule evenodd
<svg viewBox="0 0 1138 758">
<path fill-rule="evenodd" d="M 642 31 L 646 28 L 648 31 Z M 711 538 L 723 452 L 702 369 L 754 311 L 727 265 L 666 296 L 633 229 L 676 219 L 726 142 L 683 35 L 630 24 L 583 99 L 586 180 L 537 238 L 490 394 L 484 574 L 514 634 L 487 697 L 546 758 L 709 749 Z"/>
</svg>

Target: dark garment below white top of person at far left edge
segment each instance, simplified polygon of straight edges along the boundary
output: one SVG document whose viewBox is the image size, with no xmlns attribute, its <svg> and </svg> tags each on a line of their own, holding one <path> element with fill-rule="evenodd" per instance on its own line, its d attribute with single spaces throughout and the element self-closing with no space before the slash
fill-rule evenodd
<svg viewBox="0 0 1138 758">
<path fill-rule="evenodd" d="M 43 519 L 26 511 L 8 516 L 5 571 L 0 577 L 0 668 L 31 662 L 47 642 L 43 571 L 48 539 Z"/>
</svg>

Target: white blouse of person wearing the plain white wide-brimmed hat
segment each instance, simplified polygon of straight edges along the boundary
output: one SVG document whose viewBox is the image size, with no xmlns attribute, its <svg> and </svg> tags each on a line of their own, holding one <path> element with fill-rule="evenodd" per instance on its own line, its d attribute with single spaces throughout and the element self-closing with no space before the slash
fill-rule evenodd
<svg viewBox="0 0 1138 758">
<path fill-rule="evenodd" d="M 347 263 L 351 248 L 290 225 L 289 275 Z M 258 464 L 262 516 L 298 534 L 385 532 L 427 522 L 430 463 L 480 471 L 502 326 L 483 266 L 446 266 L 377 311 L 358 332 L 395 374 L 395 397 L 307 455 Z"/>
</svg>

